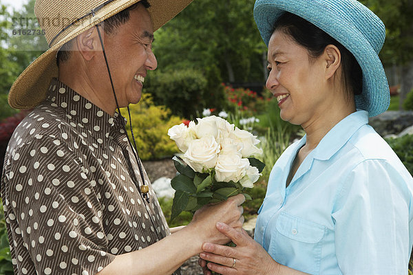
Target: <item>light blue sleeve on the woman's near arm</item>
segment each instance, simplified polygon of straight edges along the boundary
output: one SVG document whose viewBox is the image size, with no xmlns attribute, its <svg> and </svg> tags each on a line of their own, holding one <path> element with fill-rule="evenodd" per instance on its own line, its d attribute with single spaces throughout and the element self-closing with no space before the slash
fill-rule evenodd
<svg viewBox="0 0 413 275">
<path fill-rule="evenodd" d="M 343 274 L 406 274 L 410 192 L 382 159 L 358 164 L 337 199 L 335 248 Z"/>
</svg>

